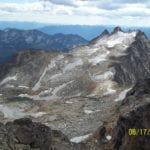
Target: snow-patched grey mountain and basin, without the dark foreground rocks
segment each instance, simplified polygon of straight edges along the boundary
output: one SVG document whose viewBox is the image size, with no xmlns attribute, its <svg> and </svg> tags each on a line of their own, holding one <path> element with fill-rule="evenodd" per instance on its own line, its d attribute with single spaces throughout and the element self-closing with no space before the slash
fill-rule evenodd
<svg viewBox="0 0 150 150">
<path fill-rule="evenodd" d="M 0 66 L 3 120 L 28 116 L 81 142 L 115 113 L 136 81 L 149 77 L 149 57 L 144 33 L 119 27 L 69 54 L 21 51 Z"/>
</svg>

